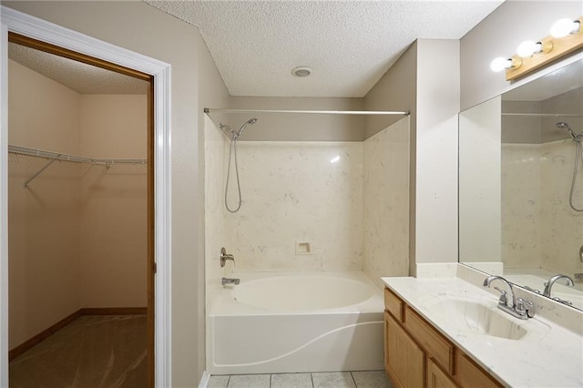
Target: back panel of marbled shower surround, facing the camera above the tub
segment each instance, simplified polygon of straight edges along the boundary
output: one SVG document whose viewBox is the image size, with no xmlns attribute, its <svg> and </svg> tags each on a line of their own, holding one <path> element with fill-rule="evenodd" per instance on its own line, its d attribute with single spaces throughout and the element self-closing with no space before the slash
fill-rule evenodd
<svg viewBox="0 0 583 388">
<path fill-rule="evenodd" d="M 362 269 L 361 142 L 241 141 L 238 157 L 237 271 Z"/>
</svg>

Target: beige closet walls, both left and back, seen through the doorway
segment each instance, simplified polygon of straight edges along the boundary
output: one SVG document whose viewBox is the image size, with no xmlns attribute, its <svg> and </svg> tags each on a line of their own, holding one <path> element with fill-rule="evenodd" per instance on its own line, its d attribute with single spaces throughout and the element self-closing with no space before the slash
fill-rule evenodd
<svg viewBox="0 0 583 388">
<path fill-rule="evenodd" d="M 80 95 L 9 61 L 9 144 L 146 158 L 147 97 Z M 145 307 L 146 166 L 9 154 L 9 348 L 87 307 Z"/>
</svg>

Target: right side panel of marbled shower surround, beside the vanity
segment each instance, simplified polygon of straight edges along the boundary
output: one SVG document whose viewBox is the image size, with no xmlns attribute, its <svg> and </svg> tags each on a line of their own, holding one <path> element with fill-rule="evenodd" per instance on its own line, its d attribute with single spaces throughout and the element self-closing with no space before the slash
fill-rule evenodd
<svg viewBox="0 0 583 388">
<path fill-rule="evenodd" d="M 363 142 L 363 271 L 379 287 L 409 272 L 409 121 Z"/>
</svg>

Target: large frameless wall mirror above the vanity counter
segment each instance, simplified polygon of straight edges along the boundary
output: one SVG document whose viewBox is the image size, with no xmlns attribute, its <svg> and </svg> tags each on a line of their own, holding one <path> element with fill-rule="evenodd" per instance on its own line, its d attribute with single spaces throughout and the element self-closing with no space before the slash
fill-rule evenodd
<svg viewBox="0 0 583 388">
<path fill-rule="evenodd" d="M 583 60 L 462 112 L 459 261 L 583 310 L 582 142 Z"/>
</svg>

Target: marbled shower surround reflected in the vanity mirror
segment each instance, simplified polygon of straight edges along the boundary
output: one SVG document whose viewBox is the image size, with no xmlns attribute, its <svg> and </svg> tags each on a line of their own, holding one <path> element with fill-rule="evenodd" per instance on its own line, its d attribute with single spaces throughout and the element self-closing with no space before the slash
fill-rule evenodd
<svg viewBox="0 0 583 388">
<path fill-rule="evenodd" d="M 507 268 L 583 271 L 583 213 L 568 205 L 575 163 L 571 139 L 502 146 L 503 257 Z M 579 168 L 578 182 L 583 181 Z M 581 185 L 576 204 L 583 203 Z"/>
</svg>

